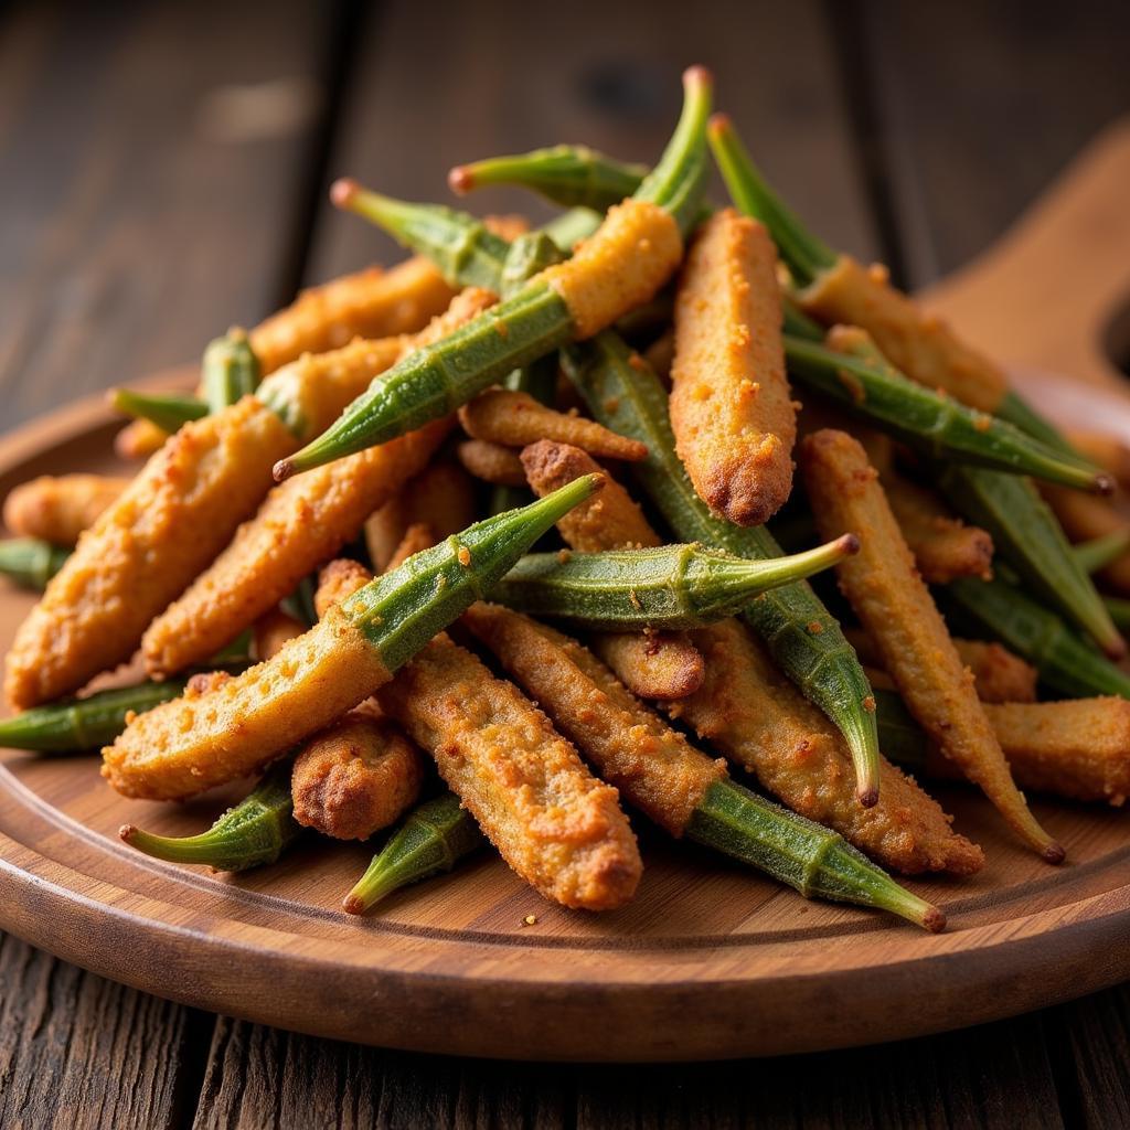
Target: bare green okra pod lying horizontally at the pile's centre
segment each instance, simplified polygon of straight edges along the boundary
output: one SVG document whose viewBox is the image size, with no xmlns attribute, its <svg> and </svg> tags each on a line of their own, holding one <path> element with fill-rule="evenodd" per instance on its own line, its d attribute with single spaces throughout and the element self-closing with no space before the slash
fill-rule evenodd
<svg viewBox="0 0 1130 1130">
<path fill-rule="evenodd" d="M 859 542 L 851 533 L 792 557 L 750 560 L 702 545 L 565 551 L 523 557 L 492 599 L 532 616 L 600 632 L 702 627 L 762 593 L 829 568 Z"/>
</svg>

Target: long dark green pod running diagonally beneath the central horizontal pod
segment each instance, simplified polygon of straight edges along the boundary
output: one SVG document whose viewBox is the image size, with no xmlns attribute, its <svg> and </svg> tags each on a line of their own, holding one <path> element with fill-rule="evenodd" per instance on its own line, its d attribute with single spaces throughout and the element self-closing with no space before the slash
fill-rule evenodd
<svg viewBox="0 0 1130 1130">
<path fill-rule="evenodd" d="M 695 493 L 675 452 L 667 392 L 659 377 L 615 334 L 603 332 L 563 351 L 565 371 L 593 417 L 640 440 L 647 458 L 632 473 L 680 538 L 753 560 L 781 556 L 764 527 L 715 519 Z M 843 733 L 855 766 L 860 799 L 878 797 L 879 742 L 871 685 L 828 614 L 805 582 L 774 589 L 747 605 L 744 618 L 765 641 L 777 666 Z"/>
</svg>

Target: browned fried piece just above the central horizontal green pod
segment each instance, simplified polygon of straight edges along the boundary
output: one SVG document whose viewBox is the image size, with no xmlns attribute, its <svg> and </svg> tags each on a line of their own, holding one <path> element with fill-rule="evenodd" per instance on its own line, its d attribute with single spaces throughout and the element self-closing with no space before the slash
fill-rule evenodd
<svg viewBox="0 0 1130 1130">
<path fill-rule="evenodd" d="M 521 459 L 524 480 L 539 498 L 582 475 L 603 470 L 586 451 L 554 440 L 530 444 L 522 451 Z M 607 472 L 603 489 L 570 511 L 557 528 L 568 545 L 580 553 L 663 544 L 632 496 Z"/>
</svg>

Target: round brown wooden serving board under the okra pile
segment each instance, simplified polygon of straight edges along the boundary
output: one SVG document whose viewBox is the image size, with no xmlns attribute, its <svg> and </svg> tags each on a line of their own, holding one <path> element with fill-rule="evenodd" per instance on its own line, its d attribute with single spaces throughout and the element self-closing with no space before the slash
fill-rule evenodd
<svg viewBox="0 0 1130 1130">
<path fill-rule="evenodd" d="M 1107 186 L 1105 205 L 1090 192 L 1095 169 Z M 1114 282 L 1130 282 L 1125 243 L 1111 235 L 1127 226 L 1128 176 L 1123 132 L 1059 190 L 1061 218 L 1106 217 L 1071 290 L 1077 297 L 1088 296 L 1088 280 L 1104 280 L 1105 298 Z M 1020 251 L 1033 242 L 1022 241 Z M 1017 294 L 1045 273 L 1025 254 L 1014 240 L 999 261 L 935 298 L 957 311 L 963 295 L 979 293 L 973 312 L 983 312 L 984 280 L 1011 263 L 1003 289 L 1012 322 L 993 341 L 982 319 L 974 337 L 1001 356 L 1040 364 L 1009 351 L 1018 340 Z M 1045 338 L 1049 320 L 1040 322 Z M 1076 356 L 1070 371 L 1105 384 L 1104 419 L 1130 426 L 1113 372 L 1088 356 Z M 1044 395 L 1048 380 L 1043 392 L 1038 382 L 1033 390 Z M 0 495 L 36 473 L 108 469 L 113 429 L 103 407 L 87 402 L 9 436 L 0 442 Z M 5 650 L 29 605 L 26 594 L 0 591 Z M 242 878 L 155 862 L 121 844 L 119 825 L 183 834 L 203 827 L 227 798 L 182 807 L 125 801 L 102 783 L 96 758 L 6 751 L 0 927 L 200 1008 L 346 1040 L 514 1059 L 841 1048 L 990 1020 L 1130 976 L 1127 814 L 1036 801 L 1037 818 L 1070 852 L 1054 869 L 1016 846 L 973 791 L 940 791 L 939 799 L 989 862 L 971 881 L 910 884 L 948 914 L 950 928 L 938 937 L 880 914 L 807 903 L 647 829 L 638 897 L 615 914 L 550 906 L 483 852 L 450 877 L 401 892 L 380 916 L 358 920 L 339 903 L 367 862 L 360 846 L 311 838 Z M 536 923 L 525 925 L 527 915 Z"/>
</svg>

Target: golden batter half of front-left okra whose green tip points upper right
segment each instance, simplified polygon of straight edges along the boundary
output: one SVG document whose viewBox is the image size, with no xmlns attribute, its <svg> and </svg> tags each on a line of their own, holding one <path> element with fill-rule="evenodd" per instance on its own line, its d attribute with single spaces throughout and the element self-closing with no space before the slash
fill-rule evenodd
<svg viewBox="0 0 1130 1130">
<path fill-rule="evenodd" d="M 192 797 L 258 772 L 389 678 L 376 651 L 331 608 L 273 659 L 138 715 L 103 749 L 102 774 L 125 797 Z"/>
</svg>

